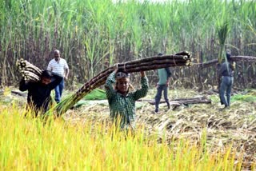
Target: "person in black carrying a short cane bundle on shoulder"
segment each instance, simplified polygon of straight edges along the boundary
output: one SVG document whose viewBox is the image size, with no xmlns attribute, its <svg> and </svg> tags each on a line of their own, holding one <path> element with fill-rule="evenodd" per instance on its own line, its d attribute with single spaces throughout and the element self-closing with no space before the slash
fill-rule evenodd
<svg viewBox="0 0 256 171">
<path fill-rule="evenodd" d="M 54 81 L 51 79 L 54 78 Z M 54 74 L 49 70 L 44 70 L 39 82 L 26 82 L 24 79 L 20 82 L 19 89 L 21 91 L 28 90 L 27 108 L 34 109 L 35 116 L 38 112 L 45 113 L 48 109 L 50 101 L 50 91 L 54 89 L 60 82 L 62 76 Z"/>
</svg>

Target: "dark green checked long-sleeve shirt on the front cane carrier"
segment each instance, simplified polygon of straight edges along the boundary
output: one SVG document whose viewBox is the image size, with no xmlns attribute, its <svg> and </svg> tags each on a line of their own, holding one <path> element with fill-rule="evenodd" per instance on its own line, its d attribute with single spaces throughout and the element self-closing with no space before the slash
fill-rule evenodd
<svg viewBox="0 0 256 171">
<path fill-rule="evenodd" d="M 141 78 L 142 89 L 137 89 L 134 92 L 129 92 L 126 96 L 118 93 L 113 88 L 115 82 L 115 73 L 110 74 L 106 79 L 106 97 L 110 105 L 110 117 L 114 119 L 120 119 L 120 129 L 126 129 L 131 126 L 135 128 L 135 101 L 139 98 L 145 97 L 149 89 L 148 79 L 146 77 Z"/>
</svg>

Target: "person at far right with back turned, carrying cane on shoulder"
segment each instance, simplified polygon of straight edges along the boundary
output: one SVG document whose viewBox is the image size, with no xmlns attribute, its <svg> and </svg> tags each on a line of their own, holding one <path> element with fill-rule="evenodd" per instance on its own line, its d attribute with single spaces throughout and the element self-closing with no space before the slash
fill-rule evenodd
<svg viewBox="0 0 256 171">
<path fill-rule="evenodd" d="M 220 101 L 225 108 L 230 107 L 230 96 L 231 96 L 231 89 L 234 83 L 234 69 L 235 63 L 231 61 L 231 55 L 226 53 L 226 60 L 222 62 L 220 69 L 219 69 L 219 77 L 222 78 L 222 82 L 219 88 L 219 96 Z M 226 93 L 226 98 L 224 94 Z"/>
</svg>

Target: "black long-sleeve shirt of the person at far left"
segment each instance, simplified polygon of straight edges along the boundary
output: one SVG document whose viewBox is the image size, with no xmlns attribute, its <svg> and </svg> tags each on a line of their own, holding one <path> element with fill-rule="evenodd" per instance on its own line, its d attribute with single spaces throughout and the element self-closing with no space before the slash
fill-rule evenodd
<svg viewBox="0 0 256 171">
<path fill-rule="evenodd" d="M 53 75 L 54 81 L 50 82 L 48 85 L 43 85 L 41 82 L 25 82 L 25 80 L 22 79 L 19 89 L 21 91 L 28 90 L 27 105 L 33 106 L 37 111 L 42 109 L 43 113 L 46 112 L 50 101 L 50 91 L 62 82 L 63 79 L 58 74 Z"/>
</svg>

